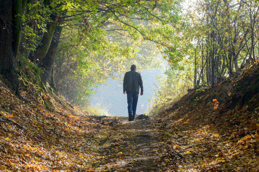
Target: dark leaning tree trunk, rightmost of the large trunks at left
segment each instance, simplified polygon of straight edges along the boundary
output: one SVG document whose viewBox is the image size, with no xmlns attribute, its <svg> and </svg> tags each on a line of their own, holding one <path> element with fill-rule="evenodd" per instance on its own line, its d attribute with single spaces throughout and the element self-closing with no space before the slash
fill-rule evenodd
<svg viewBox="0 0 259 172">
<path fill-rule="evenodd" d="M 39 67 L 43 69 L 43 73 L 41 73 L 41 80 L 46 85 L 49 77 L 52 74 L 52 66 L 54 71 L 54 59 L 57 47 L 59 45 L 59 38 L 62 31 L 62 26 L 56 26 L 56 29 L 53 33 L 52 41 L 49 46 L 49 50 L 44 58 L 40 61 Z M 54 83 L 52 83 L 54 85 Z"/>
</svg>

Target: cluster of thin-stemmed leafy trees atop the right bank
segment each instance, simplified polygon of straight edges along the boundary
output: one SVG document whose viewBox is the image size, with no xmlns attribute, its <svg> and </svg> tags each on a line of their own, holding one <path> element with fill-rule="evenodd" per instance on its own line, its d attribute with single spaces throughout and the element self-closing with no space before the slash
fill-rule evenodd
<svg viewBox="0 0 259 172">
<path fill-rule="evenodd" d="M 182 42 L 181 49 L 196 60 L 194 86 L 216 85 L 222 77 L 238 72 L 246 60 L 255 61 L 257 19 L 258 3 L 253 0 L 196 2 L 187 10 L 182 40 L 193 45 Z"/>
</svg>

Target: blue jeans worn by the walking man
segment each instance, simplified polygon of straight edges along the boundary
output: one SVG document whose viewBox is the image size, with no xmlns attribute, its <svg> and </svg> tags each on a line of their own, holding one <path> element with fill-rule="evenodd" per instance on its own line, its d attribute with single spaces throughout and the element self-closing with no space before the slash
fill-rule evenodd
<svg viewBox="0 0 259 172">
<path fill-rule="evenodd" d="M 128 100 L 128 113 L 132 114 L 132 120 L 134 120 L 138 103 L 138 92 L 127 91 L 126 93 Z"/>
</svg>

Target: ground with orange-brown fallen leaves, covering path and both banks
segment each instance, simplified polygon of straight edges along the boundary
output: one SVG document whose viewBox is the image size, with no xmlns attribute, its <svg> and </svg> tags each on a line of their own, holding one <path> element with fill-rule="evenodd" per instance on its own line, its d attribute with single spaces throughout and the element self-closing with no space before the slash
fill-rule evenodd
<svg viewBox="0 0 259 172">
<path fill-rule="evenodd" d="M 25 79 L 19 100 L 1 79 L 0 170 L 258 171 L 258 73 L 244 69 L 132 122 L 92 116 Z"/>
</svg>

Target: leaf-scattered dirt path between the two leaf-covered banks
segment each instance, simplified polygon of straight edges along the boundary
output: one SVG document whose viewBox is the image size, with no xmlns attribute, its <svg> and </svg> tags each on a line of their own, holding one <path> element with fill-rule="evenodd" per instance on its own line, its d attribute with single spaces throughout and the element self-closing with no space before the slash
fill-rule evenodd
<svg viewBox="0 0 259 172">
<path fill-rule="evenodd" d="M 164 171 L 166 163 L 161 157 L 167 152 L 161 151 L 164 141 L 154 118 L 128 122 L 127 117 L 117 117 L 117 120 L 120 124 L 101 136 L 97 153 L 101 161 L 95 167 L 101 171 Z"/>
</svg>

